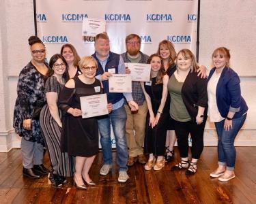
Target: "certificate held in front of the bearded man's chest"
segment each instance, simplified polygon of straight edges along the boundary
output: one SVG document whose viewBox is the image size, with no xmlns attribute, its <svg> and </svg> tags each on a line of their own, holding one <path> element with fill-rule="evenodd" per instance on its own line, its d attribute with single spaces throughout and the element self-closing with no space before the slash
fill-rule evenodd
<svg viewBox="0 0 256 204">
<path fill-rule="evenodd" d="M 137 82 L 150 82 L 150 64 L 141 63 L 126 63 L 130 69 L 132 81 Z"/>
</svg>

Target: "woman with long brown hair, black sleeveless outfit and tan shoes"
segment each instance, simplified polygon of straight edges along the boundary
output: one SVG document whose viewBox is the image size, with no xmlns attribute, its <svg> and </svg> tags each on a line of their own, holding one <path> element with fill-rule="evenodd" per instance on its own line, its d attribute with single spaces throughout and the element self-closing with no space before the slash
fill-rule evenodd
<svg viewBox="0 0 256 204">
<path fill-rule="evenodd" d="M 167 101 L 169 77 L 162 66 L 160 55 L 152 54 L 147 63 L 151 65 L 151 80 L 141 82 L 148 107 L 144 148 L 145 153 L 150 154 L 150 158 L 145 164 L 145 170 L 150 170 L 152 167 L 154 170 L 160 170 L 165 167 L 165 139 L 169 118 L 169 100 Z"/>
</svg>

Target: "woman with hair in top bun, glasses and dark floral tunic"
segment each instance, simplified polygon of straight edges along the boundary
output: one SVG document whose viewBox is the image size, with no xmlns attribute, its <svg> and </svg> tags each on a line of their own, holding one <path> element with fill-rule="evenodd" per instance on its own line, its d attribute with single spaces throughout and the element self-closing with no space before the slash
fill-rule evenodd
<svg viewBox="0 0 256 204">
<path fill-rule="evenodd" d="M 39 122 L 40 111 L 46 101 L 44 82 L 48 77 L 48 67 L 44 63 L 46 50 L 42 41 L 31 36 L 29 46 L 32 60 L 20 71 L 13 126 L 22 137 L 23 175 L 37 179 L 48 174 L 48 169 L 42 165 L 44 139 Z"/>
</svg>

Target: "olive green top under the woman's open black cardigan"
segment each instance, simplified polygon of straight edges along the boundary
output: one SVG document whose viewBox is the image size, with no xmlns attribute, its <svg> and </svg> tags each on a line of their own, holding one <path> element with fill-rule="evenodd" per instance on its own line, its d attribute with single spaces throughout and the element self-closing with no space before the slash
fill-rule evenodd
<svg viewBox="0 0 256 204">
<path fill-rule="evenodd" d="M 168 82 L 168 90 L 171 95 L 170 115 L 171 118 L 180 122 L 191 120 L 188 110 L 182 100 L 182 86 L 184 82 L 178 82 L 175 75 L 171 75 Z"/>
</svg>

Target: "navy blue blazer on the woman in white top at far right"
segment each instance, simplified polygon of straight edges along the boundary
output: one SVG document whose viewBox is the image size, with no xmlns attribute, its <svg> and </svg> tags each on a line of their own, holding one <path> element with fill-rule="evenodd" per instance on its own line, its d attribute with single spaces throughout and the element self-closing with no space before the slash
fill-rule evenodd
<svg viewBox="0 0 256 204">
<path fill-rule="evenodd" d="M 212 77 L 215 67 L 210 71 L 208 80 Z M 229 110 L 236 114 L 233 118 L 240 118 L 247 112 L 248 106 L 241 96 L 240 78 L 233 69 L 224 67 L 216 88 L 216 101 L 218 111 L 223 118 L 227 117 Z"/>
</svg>

